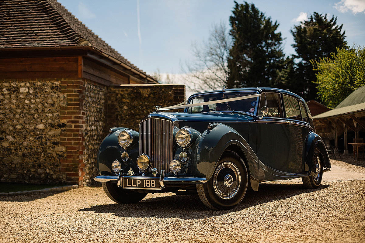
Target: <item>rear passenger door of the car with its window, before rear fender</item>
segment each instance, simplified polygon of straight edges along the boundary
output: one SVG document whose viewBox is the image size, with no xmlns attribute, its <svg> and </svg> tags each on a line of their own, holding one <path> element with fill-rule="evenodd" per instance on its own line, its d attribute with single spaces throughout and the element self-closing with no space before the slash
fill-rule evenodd
<svg viewBox="0 0 365 243">
<path fill-rule="evenodd" d="M 291 138 L 291 161 L 290 167 L 296 173 L 303 173 L 309 170 L 304 163 L 304 153 L 308 133 L 312 130 L 308 121 L 308 115 L 304 104 L 300 99 L 283 94 L 285 117 L 289 122 L 289 133 Z"/>
</svg>

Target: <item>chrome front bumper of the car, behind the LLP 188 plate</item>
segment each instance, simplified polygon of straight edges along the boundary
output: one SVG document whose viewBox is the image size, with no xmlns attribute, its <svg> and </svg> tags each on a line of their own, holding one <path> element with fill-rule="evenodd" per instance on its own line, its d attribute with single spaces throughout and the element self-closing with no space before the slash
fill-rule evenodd
<svg viewBox="0 0 365 243">
<path fill-rule="evenodd" d="M 100 182 L 113 182 L 118 183 L 118 186 L 122 187 L 122 181 L 123 177 L 121 175 L 122 173 L 119 173 L 118 176 L 96 176 L 94 178 L 95 181 Z M 143 176 L 126 176 L 128 178 L 145 178 Z M 157 177 L 158 178 L 158 177 Z M 177 177 L 177 176 L 171 176 L 166 177 L 164 171 L 162 170 L 160 173 L 160 185 L 161 188 L 165 188 L 165 185 L 195 185 L 195 184 L 204 184 L 207 183 L 207 178 L 201 178 L 201 177 Z"/>
</svg>

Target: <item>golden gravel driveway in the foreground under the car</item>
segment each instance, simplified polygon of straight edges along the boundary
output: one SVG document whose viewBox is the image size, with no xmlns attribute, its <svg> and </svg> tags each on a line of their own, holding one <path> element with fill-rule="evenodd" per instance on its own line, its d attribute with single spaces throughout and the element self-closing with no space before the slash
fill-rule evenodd
<svg viewBox="0 0 365 243">
<path fill-rule="evenodd" d="M 327 172 L 331 173 L 331 172 Z M 102 188 L 0 197 L 0 242 L 364 242 L 365 180 L 260 184 L 233 210 L 197 196 L 119 205 Z"/>
</svg>

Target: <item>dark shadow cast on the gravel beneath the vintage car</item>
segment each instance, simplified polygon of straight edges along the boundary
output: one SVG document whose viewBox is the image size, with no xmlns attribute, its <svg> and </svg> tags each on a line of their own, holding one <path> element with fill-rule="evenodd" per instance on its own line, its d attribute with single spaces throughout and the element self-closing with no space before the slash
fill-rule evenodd
<svg viewBox="0 0 365 243">
<path fill-rule="evenodd" d="M 248 192 L 241 204 L 234 209 L 223 211 L 212 211 L 207 209 L 203 203 L 201 203 L 197 195 L 154 197 L 135 204 L 96 205 L 89 208 L 78 209 L 78 211 L 112 213 L 119 217 L 204 219 L 245 210 L 258 204 L 286 199 L 303 193 L 320 191 L 327 187 L 329 187 L 329 185 L 321 185 L 318 189 L 308 190 L 304 189 L 303 185 L 299 184 L 260 184 L 258 192 Z"/>
</svg>

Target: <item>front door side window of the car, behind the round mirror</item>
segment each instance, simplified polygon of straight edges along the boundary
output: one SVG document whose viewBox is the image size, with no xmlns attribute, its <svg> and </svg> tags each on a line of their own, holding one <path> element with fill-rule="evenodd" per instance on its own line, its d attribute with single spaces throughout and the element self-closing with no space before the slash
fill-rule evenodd
<svg viewBox="0 0 365 243">
<path fill-rule="evenodd" d="M 280 94 L 276 93 L 263 93 L 261 95 L 260 109 L 258 115 L 262 116 L 261 107 L 267 106 L 269 108 L 269 117 L 281 117 L 284 118 L 283 109 L 281 107 Z"/>
</svg>

